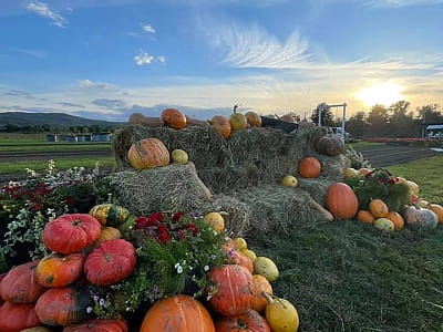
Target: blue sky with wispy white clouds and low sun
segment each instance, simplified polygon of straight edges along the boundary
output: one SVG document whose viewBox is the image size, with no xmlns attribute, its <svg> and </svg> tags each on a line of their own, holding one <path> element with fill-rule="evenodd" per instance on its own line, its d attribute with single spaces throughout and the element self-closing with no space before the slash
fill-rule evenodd
<svg viewBox="0 0 443 332">
<path fill-rule="evenodd" d="M 0 112 L 350 116 L 398 101 L 443 104 L 443 0 L 0 0 Z"/>
</svg>

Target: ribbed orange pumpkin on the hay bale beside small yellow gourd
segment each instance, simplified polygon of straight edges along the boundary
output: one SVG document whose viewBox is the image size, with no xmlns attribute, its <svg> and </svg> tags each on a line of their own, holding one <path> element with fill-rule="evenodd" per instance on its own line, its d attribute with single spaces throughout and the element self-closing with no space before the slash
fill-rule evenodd
<svg viewBox="0 0 443 332">
<path fill-rule="evenodd" d="M 127 160 L 135 169 L 166 166 L 169 164 L 169 152 L 158 138 L 144 138 L 131 145 Z"/>
</svg>

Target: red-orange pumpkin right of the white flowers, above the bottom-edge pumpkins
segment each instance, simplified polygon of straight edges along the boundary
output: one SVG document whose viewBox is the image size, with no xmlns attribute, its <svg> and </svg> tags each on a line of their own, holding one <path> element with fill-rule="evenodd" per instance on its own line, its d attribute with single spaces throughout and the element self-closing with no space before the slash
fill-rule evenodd
<svg viewBox="0 0 443 332">
<path fill-rule="evenodd" d="M 217 292 L 209 299 L 210 307 L 226 317 L 246 312 L 253 301 L 253 276 L 237 264 L 217 266 L 208 272 Z"/>
</svg>

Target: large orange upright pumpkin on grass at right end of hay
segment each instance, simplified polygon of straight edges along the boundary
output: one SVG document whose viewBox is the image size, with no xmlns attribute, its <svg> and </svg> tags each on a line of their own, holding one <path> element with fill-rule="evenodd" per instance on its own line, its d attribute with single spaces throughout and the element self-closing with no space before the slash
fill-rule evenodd
<svg viewBox="0 0 443 332">
<path fill-rule="evenodd" d="M 359 200 L 347 184 L 334 183 L 328 187 L 326 205 L 337 219 L 346 220 L 356 216 Z"/>
</svg>

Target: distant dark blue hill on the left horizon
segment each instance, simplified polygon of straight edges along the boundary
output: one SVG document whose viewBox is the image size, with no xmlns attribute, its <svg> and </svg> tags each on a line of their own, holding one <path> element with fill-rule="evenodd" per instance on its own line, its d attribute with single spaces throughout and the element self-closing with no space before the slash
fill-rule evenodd
<svg viewBox="0 0 443 332">
<path fill-rule="evenodd" d="M 0 126 L 3 127 L 7 124 L 17 126 L 27 126 L 27 125 L 42 126 L 44 124 L 48 124 L 53 128 L 63 128 L 71 126 L 93 126 L 93 125 L 99 125 L 100 127 L 121 126 L 126 123 L 92 120 L 92 118 L 69 115 L 65 113 L 25 113 L 25 112 L 0 113 Z"/>
</svg>

